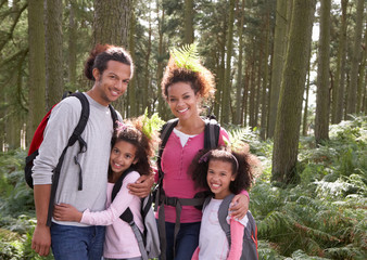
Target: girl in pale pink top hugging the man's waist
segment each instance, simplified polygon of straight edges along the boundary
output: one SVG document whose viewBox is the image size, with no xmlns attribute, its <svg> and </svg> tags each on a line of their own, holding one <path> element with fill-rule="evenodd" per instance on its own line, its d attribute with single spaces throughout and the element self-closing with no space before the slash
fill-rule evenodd
<svg viewBox="0 0 367 260">
<path fill-rule="evenodd" d="M 140 214 L 141 199 L 131 195 L 126 185 L 136 182 L 140 174 L 151 174 L 150 158 L 154 155 L 153 144 L 155 140 L 153 133 L 149 135 L 142 131 L 142 117 L 121 123 L 115 130 L 110 155 L 106 210 L 91 212 L 86 209 L 84 212 L 79 212 L 67 204 L 60 204 L 54 208 L 53 216 L 59 221 L 78 221 L 91 225 L 106 225 L 103 248 L 104 259 L 142 259 L 138 242 L 130 225 L 121 220 L 119 216 L 129 207 L 134 214 L 134 221 L 139 230 L 143 232 L 144 227 Z M 132 171 L 125 177 L 119 192 L 111 203 L 115 182 L 129 168 Z"/>
</svg>

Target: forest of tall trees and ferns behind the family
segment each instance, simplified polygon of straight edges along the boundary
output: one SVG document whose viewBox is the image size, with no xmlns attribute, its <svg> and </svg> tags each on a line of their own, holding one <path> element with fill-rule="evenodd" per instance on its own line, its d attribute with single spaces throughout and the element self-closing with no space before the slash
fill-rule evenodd
<svg viewBox="0 0 367 260">
<path fill-rule="evenodd" d="M 124 118 L 148 109 L 167 120 L 160 82 L 169 50 L 197 42 L 216 76 L 206 107 L 263 162 L 251 191 L 261 258 L 364 259 L 366 8 L 365 0 L 1 0 L 0 226 L 15 231 L 0 233 L 3 256 L 36 258 L 24 151 L 64 91 L 91 87 L 83 76 L 91 48 L 124 46 L 132 55 L 136 75 L 114 104 Z"/>
</svg>

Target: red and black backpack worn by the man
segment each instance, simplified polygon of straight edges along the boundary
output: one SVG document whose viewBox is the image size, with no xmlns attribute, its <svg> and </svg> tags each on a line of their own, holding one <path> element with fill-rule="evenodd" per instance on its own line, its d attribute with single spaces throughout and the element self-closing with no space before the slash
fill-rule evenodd
<svg viewBox="0 0 367 260">
<path fill-rule="evenodd" d="M 79 191 L 83 190 L 81 168 L 80 168 L 80 165 L 79 165 L 77 158 L 78 158 L 79 154 L 85 153 L 87 151 L 87 143 L 86 143 L 86 141 L 83 140 L 81 133 L 83 133 L 84 129 L 86 128 L 86 125 L 87 125 L 87 121 L 88 121 L 88 118 L 89 118 L 89 102 L 88 102 L 88 99 L 85 96 L 85 94 L 83 94 L 81 92 L 75 92 L 75 93 L 67 92 L 63 95 L 63 99 L 68 98 L 68 96 L 75 96 L 80 101 L 80 103 L 81 103 L 81 114 L 80 114 L 79 121 L 78 121 L 77 126 L 75 127 L 75 129 L 73 131 L 73 134 L 68 139 L 66 147 L 63 150 L 63 152 L 62 152 L 62 154 L 59 158 L 59 162 L 58 162 L 56 167 L 53 169 L 51 196 L 50 196 L 50 204 L 49 204 L 49 214 L 48 214 L 48 219 L 47 219 L 47 225 L 48 226 L 51 225 L 51 218 L 52 218 L 52 213 L 53 213 L 53 203 L 54 203 L 54 197 L 55 197 L 56 190 L 58 190 L 60 170 L 61 170 L 62 164 L 64 161 L 64 156 L 66 154 L 67 148 L 69 146 L 73 146 L 77 141 L 79 143 L 79 152 L 75 156 L 75 158 L 76 158 L 75 164 L 79 166 L 78 190 Z M 41 122 L 38 125 L 36 132 L 34 134 L 34 138 L 31 139 L 31 143 L 30 143 L 29 151 L 28 151 L 28 156 L 25 158 L 25 167 L 24 167 L 25 180 L 26 180 L 26 183 L 28 184 L 28 186 L 31 187 L 31 188 L 34 187 L 33 178 L 31 178 L 31 168 L 34 166 L 34 159 L 38 155 L 38 148 L 43 141 L 45 128 L 46 128 L 46 126 L 49 121 L 51 112 L 52 112 L 54 106 L 52 106 L 52 108 L 46 114 L 46 116 L 43 117 Z M 114 127 L 115 127 L 116 121 L 118 120 L 117 113 L 113 108 L 112 105 L 109 105 L 109 107 L 110 107 L 112 120 L 113 120 L 113 123 L 114 123 Z"/>
</svg>

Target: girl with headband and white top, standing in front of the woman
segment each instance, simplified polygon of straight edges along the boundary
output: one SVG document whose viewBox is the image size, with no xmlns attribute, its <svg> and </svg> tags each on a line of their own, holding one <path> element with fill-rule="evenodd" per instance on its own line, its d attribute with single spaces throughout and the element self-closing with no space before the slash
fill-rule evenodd
<svg viewBox="0 0 367 260">
<path fill-rule="evenodd" d="M 229 248 L 226 234 L 218 221 L 218 209 L 223 199 L 228 195 L 249 190 L 253 180 L 250 156 L 245 152 L 239 153 L 219 147 L 201 151 L 193 159 L 190 169 L 195 185 L 212 191 L 213 197 L 203 210 L 199 247 L 194 251 L 192 260 L 240 259 L 244 226 L 248 222 L 246 216 L 241 220 L 227 217 L 231 234 Z"/>
</svg>

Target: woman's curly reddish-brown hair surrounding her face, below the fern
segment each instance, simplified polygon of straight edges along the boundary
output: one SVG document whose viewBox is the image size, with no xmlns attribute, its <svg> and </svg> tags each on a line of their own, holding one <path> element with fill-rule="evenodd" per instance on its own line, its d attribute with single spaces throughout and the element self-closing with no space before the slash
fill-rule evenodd
<svg viewBox="0 0 367 260">
<path fill-rule="evenodd" d="M 197 94 L 199 92 L 203 99 L 213 98 L 215 92 L 213 74 L 200 63 L 195 64 L 195 66 L 199 68 L 195 72 L 186 68 L 185 66 L 179 67 L 175 57 L 170 55 L 168 65 L 166 66 L 162 78 L 162 95 L 167 99 L 168 88 L 172 84 L 185 82 L 189 83 L 194 93 Z"/>
</svg>

